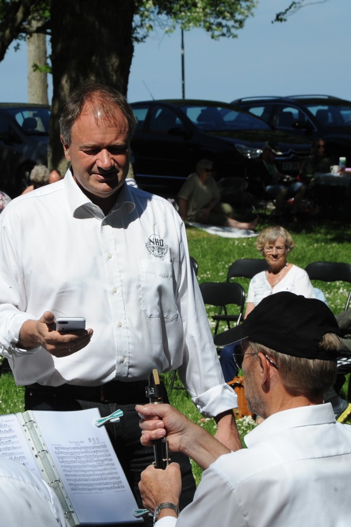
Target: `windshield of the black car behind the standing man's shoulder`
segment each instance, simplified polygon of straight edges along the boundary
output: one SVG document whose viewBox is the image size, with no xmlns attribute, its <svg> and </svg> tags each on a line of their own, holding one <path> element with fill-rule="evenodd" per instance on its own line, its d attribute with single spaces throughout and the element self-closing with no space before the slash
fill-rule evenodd
<svg viewBox="0 0 351 527">
<path fill-rule="evenodd" d="M 203 104 L 180 108 L 199 130 L 270 130 L 268 124 L 254 115 L 227 106 Z"/>
</svg>

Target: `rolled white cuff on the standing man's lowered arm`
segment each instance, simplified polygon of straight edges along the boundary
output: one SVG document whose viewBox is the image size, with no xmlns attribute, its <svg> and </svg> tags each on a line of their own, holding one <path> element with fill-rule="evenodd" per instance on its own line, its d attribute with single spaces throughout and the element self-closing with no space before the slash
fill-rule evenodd
<svg viewBox="0 0 351 527">
<path fill-rule="evenodd" d="M 238 397 L 228 384 L 214 386 L 198 397 L 192 397 L 194 405 L 204 417 L 216 417 L 238 407 Z"/>
</svg>

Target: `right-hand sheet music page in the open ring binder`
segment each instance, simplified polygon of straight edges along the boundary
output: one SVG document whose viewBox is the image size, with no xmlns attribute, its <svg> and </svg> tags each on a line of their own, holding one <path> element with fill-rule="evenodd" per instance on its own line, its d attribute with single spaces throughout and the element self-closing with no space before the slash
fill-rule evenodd
<svg viewBox="0 0 351 527">
<path fill-rule="evenodd" d="M 98 409 L 33 414 L 79 521 L 136 521 L 138 506 L 108 434 L 94 424 Z"/>
</svg>

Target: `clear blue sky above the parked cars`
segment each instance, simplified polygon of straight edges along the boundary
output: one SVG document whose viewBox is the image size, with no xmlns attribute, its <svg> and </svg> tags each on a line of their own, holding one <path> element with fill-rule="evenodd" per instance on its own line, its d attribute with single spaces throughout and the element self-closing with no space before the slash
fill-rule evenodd
<svg viewBox="0 0 351 527">
<path fill-rule="evenodd" d="M 282 24 L 271 24 L 290 0 L 260 0 L 238 38 L 213 41 L 184 33 L 185 96 L 230 102 L 260 95 L 327 94 L 351 100 L 350 0 L 306 0 Z M 25 43 L 0 62 L 0 102 L 27 102 Z M 181 33 L 160 30 L 135 45 L 130 102 L 181 98 Z M 49 79 L 49 100 L 52 97 Z"/>
</svg>

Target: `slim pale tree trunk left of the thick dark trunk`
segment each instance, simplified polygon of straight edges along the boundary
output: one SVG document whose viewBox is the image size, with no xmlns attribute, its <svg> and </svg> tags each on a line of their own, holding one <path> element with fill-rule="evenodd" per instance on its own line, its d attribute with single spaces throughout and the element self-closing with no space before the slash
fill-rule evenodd
<svg viewBox="0 0 351 527">
<path fill-rule="evenodd" d="M 32 21 L 32 27 L 37 26 Z M 28 102 L 48 104 L 47 98 L 47 73 L 35 70 L 34 65 L 46 65 L 46 40 L 45 35 L 34 33 L 26 37 L 28 58 Z"/>
</svg>

